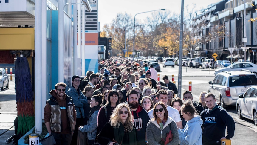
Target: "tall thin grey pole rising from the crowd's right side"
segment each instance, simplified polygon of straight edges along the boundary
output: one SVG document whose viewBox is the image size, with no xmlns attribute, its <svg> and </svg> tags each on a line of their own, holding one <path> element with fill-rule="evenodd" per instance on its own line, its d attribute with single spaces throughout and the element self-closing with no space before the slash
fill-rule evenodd
<svg viewBox="0 0 257 145">
<path fill-rule="evenodd" d="M 182 49 L 183 49 L 183 22 L 184 19 L 184 0 L 181 0 L 181 19 L 180 19 L 180 38 L 179 38 L 179 78 L 178 78 L 178 97 L 181 96 L 181 81 L 182 81 Z"/>
</svg>

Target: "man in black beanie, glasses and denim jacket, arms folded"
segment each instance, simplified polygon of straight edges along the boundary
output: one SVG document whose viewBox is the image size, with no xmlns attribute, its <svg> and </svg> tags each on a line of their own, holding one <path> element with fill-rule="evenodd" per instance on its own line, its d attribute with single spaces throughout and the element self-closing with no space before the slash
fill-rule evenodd
<svg viewBox="0 0 257 145">
<path fill-rule="evenodd" d="M 78 126 L 84 126 L 87 122 L 87 118 L 84 112 L 84 104 L 86 106 L 86 104 L 88 104 L 88 100 L 78 88 L 79 84 L 80 84 L 80 77 L 78 75 L 73 76 L 72 86 L 67 91 L 67 95 L 72 97 L 72 100 L 77 112 L 77 119 L 76 119 L 76 126 L 75 126 L 76 129 L 72 137 L 72 144 L 77 144 Z"/>
</svg>

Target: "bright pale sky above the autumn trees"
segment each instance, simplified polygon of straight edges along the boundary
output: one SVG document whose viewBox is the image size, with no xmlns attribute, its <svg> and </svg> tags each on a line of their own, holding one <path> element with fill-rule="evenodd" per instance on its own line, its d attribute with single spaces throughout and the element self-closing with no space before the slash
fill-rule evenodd
<svg viewBox="0 0 257 145">
<path fill-rule="evenodd" d="M 186 6 L 190 11 L 193 9 L 193 4 L 196 4 L 196 10 L 201 10 L 220 1 L 223 0 L 184 0 L 184 16 L 188 11 Z M 136 13 L 158 9 L 166 9 L 171 13 L 180 14 L 181 0 L 98 0 L 98 21 L 102 29 L 104 24 L 110 24 L 112 19 L 116 18 L 117 13 L 126 12 L 134 18 Z M 136 18 L 143 21 L 147 16 L 151 16 L 151 13 L 140 14 Z"/>
</svg>

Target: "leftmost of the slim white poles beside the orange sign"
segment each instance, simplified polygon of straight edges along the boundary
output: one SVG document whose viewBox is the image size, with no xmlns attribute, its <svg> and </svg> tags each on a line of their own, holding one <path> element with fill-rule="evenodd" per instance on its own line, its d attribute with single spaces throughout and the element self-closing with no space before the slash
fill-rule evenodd
<svg viewBox="0 0 257 145">
<path fill-rule="evenodd" d="M 77 2 L 77 0 L 74 0 Z M 78 50 L 77 50 L 77 5 L 73 5 L 73 75 L 78 74 Z"/>
</svg>

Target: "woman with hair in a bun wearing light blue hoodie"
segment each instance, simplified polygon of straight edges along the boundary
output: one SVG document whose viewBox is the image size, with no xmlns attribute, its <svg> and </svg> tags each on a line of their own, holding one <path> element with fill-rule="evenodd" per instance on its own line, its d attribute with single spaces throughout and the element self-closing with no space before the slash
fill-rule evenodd
<svg viewBox="0 0 257 145">
<path fill-rule="evenodd" d="M 202 144 L 202 119 L 195 116 L 196 110 L 190 99 L 186 100 L 181 107 L 181 115 L 187 121 L 184 129 L 178 128 L 180 145 Z"/>
</svg>

